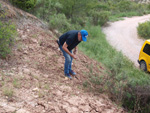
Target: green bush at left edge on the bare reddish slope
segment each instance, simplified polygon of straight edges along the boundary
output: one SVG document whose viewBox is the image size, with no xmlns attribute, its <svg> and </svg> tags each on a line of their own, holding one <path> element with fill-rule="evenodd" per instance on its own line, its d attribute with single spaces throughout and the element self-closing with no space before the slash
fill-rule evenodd
<svg viewBox="0 0 150 113">
<path fill-rule="evenodd" d="M 0 21 L 0 57 L 5 58 L 11 52 L 16 35 L 15 25 Z"/>
</svg>

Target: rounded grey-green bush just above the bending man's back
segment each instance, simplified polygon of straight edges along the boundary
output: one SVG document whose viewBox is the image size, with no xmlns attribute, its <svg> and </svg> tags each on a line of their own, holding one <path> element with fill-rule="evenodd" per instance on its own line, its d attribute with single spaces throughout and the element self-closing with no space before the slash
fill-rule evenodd
<svg viewBox="0 0 150 113">
<path fill-rule="evenodd" d="M 55 14 L 50 16 L 49 28 L 58 29 L 60 32 L 66 32 L 70 29 L 74 29 L 70 24 L 70 20 L 66 18 L 64 14 Z"/>
</svg>

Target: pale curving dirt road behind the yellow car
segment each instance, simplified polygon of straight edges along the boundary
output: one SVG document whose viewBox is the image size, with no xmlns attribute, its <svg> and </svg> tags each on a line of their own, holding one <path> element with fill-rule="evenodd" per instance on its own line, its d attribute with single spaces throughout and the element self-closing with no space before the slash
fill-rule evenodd
<svg viewBox="0 0 150 113">
<path fill-rule="evenodd" d="M 110 23 L 103 28 L 108 42 L 118 51 L 127 56 L 136 67 L 139 66 L 137 60 L 139 52 L 144 43 L 144 39 L 139 39 L 137 26 L 150 19 L 150 15 L 141 17 L 125 18 L 124 20 Z"/>
</svg>

